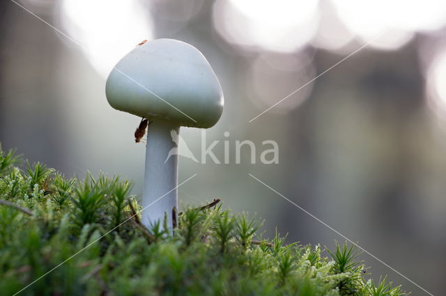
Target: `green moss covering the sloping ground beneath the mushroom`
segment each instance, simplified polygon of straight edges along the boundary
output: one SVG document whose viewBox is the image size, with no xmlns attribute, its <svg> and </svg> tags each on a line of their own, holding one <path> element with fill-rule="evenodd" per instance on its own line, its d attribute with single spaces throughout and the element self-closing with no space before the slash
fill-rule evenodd
<svg viewBox="0 0 446 296">
<path fill-rule="evenodd" d="M 221 204 L 185 209 L 174 233 L 146 229 L 128 181 L 65 179 L 19 160 L 0 152 L 2 295 L 30 283 L 20 294 L 403 295 L 366 281 L 353 247 L 261 240 L 261 222 Z"/>
</svg>

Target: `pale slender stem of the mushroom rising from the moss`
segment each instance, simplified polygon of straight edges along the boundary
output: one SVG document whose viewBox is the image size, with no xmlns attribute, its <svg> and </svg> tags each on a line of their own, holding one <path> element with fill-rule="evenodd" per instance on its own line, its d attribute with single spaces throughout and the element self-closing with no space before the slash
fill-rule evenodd
<svg viewBox="0 0 446 296">
<path fill-rule="evenodd" d="M 142 223 L 149 229 L 157 221 L 162 226 L 165 216 L 167 227 L 173 228 L 172 208 L 178 208 L 179 132 L 178 124 L 164 120 L 153 120 L 148 126 Z"/>
</svg>

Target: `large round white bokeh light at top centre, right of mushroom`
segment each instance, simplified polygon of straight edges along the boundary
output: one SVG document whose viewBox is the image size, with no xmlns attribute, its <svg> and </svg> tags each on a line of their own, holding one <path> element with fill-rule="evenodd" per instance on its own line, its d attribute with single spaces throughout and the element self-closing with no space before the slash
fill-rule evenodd
<svg viewBox="0 0 446 296">
<path fill-rule="evenodd" d="M 317 29 L 318 0 L 217 0 L 214 25 L 244 49 L 289 52 L 305 46 Z"/>
</svg>

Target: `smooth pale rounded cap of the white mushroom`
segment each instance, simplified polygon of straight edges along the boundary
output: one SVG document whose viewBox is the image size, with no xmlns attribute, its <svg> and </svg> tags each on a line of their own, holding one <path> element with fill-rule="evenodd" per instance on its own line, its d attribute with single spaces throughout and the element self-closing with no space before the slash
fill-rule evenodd
<svg viewBox="0 0 446 296">
<path fill-rule="evenodd" d="M 109 74 L 109 104 L 139 117 L 209 128 L 223 111 L 222 87 L 192 45 L 157 39 L 135 47 Z"/>
</svg>

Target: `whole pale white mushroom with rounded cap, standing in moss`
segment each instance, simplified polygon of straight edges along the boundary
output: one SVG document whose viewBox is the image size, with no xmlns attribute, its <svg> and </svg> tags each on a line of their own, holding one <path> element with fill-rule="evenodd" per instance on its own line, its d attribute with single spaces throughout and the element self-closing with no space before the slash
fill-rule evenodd
<svg viewBox="0 0 446 296">
<path fill-rule="evenodd" d="M 105 92 L 116 110 L 152 122 L 147 134 L 142 222 L 151 227 L 167 215 L 172 229 L 178 220 L 178 154 L 167 156 L 171 149 L 178 149 L 180 126 L 208 129 L 220 119 L 223 92 L 217 76 L 192 45 L 158 39 L 121 58 L 107 78 Z"/>
</svg>

